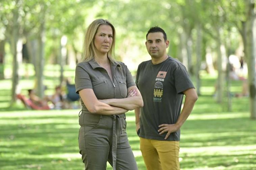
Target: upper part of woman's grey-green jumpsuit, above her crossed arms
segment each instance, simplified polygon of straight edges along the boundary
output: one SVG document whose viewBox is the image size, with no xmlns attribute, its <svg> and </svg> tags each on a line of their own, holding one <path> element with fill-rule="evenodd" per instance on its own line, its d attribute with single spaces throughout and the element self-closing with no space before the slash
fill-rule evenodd
<svg viewBox="0 0 256 170">
<path fill-rule="evenodd" d="M 98 99 L 126 98 L 127 88 L 135 86 L 132 75 L 127 66 L 122 62 L 112 63 L 111 72 L 113 80 L 107 71 L 94 59 L 80 62 L 76 65 L 75 85 L 76 93 L 79 90 L 93 89 Z M 90 113 L 80 97 L 82 112 Z"/>
</svg>

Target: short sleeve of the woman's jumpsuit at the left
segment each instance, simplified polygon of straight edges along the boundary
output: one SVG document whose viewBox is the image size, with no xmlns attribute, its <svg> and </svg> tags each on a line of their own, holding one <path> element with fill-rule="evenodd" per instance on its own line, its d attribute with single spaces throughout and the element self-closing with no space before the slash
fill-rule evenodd
<svg viewBox="0 0 256 170">
<path fill-rule="evenodd" d="M 75 85 L 76 93 L 78 93 L 78 91 L 82 89 L 93 88 L 90 76 L 81 65 L 76 66 Z"/>
</svg>

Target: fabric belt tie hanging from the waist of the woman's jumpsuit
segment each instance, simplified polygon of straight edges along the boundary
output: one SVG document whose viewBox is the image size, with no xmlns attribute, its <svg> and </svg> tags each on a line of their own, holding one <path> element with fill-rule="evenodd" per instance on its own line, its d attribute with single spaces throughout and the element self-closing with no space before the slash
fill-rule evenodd
<svg viewBox="0 0 256 170">
<path fill-rule="evenodd" d="M 121 134 L 123 133 L 123 125 L 119 115 L 113 115 L 113 131 L 112 131 L 112 160 L 113 160 L 113 170 L 116 170 L 117 162 L 117 134 L 116 134 L 116 121 L 119 119 L 121 123 Z"/>
</svg>

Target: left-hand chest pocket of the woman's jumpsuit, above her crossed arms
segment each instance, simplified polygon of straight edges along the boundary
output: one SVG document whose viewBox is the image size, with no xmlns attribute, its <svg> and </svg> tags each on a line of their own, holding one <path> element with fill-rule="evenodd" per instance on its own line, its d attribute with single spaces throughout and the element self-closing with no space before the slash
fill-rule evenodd
<svg viewBox="0 0 256 170">
<path fill-rule="evenodd" d="M 109 96 L 109 82 L 105 77 L 92 79 L 93 91 L 98 99 L 106 99 Z"/>
</svg>

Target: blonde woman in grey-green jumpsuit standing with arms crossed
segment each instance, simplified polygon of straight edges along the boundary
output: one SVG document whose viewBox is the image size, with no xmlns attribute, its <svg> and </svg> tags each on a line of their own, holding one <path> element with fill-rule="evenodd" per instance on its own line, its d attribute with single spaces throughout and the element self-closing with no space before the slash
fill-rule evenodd
<svg viewBox="0 0 256 170">
<path fill-rule="evenodd" d="M 127 66 L 112 58 L 115 37 L 107 20 L 93 21 L 85 34 L 83 61 L 76 66 L 76 92 L 82 105 L 78 141 L 86 170 L 106 169 L 107 161 L 114 170 L 137 169 L 125 112 L 143 107 L 143 100 Z"/>
</svg>

